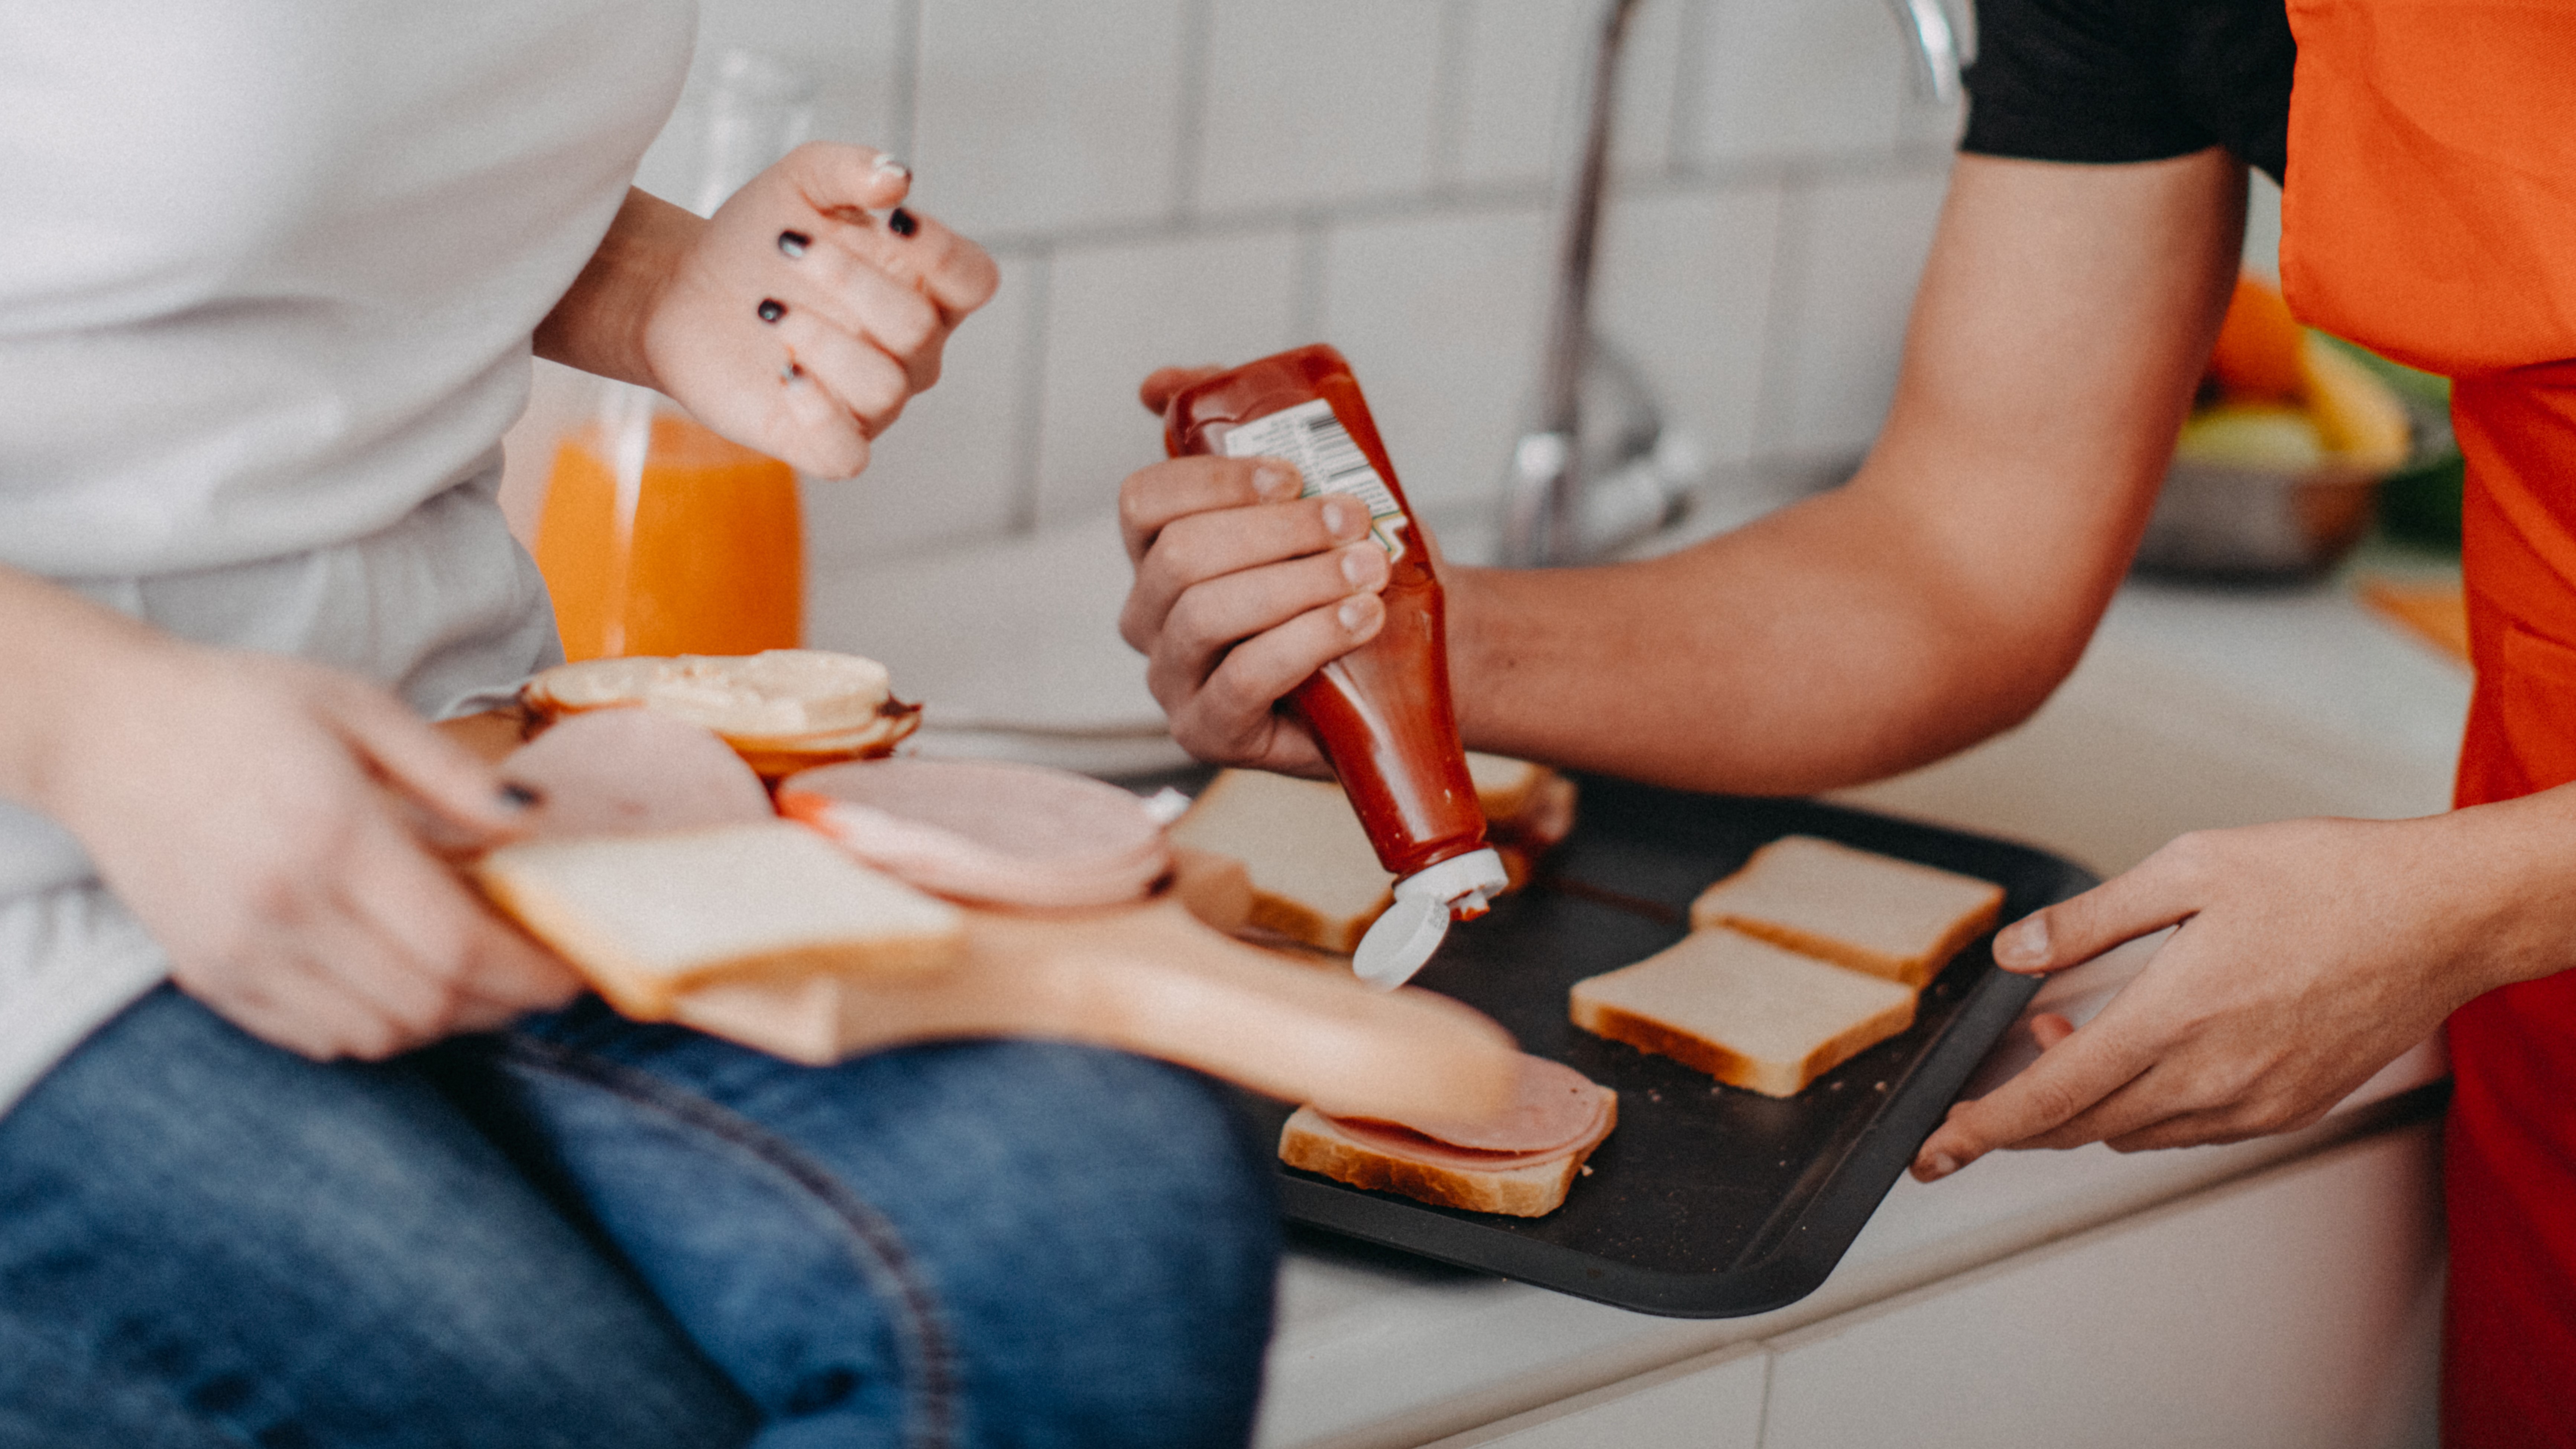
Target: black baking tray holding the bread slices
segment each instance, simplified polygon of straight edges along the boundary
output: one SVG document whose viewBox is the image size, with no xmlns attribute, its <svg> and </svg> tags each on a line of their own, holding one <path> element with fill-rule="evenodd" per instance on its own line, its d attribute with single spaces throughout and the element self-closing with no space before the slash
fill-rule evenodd
<svg viewBox="0 0 2576 1449">
<path fill-rule="evenodd" d="M 1994 880 L 2004 921 L 2094 875 L 2025 844 L 1814 800 L 1579 785 L 1579 824 L 1540 878 L 1458 924 L 1414 983 L 1618 1089 L 1618 1130 L 1592 1174 L 1548 1217 L 1499 1217 L 1283 1166 L 1283 1207 L 1293 1223 L 1641 1313 L 1736 1318 L 1795 1302 L 1842 1261 L 2038 978 L 1999 970 L 1984 937 L 1924 988 L 1914 1027 L 1785 1102 L 1577 1029 L 1566 991 L 1682 939 L 1692 896 L 1785 834 Z M 1291 1107 L 1252 1112 L 1275 1130 Z"/>
</svg>

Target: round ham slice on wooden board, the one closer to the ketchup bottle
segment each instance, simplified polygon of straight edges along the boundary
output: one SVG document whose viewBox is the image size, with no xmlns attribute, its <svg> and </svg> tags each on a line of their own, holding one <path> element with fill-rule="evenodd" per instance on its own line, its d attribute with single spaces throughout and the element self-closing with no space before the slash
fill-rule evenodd
<svg viewBox="0 0 2576 1449">
<path fill-rule="evenodd" d="M 829 764 L 778 811 L 922 891 L 997 906 L 1113 906 L 1172 867 L 1162 826 L 1115 785 L 989 759 Z"/>
</svg>

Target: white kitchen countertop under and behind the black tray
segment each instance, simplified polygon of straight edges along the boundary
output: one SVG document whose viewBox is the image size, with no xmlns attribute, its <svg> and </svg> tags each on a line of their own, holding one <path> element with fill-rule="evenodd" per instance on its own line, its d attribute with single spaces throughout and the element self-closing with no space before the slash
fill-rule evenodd
<svg viewBox="0 0 2576 1449">
<path fill-rule="evenodd" d="M 819 646 L 884 659 L 930 700 L 933 752 L 1121 772 L 1180 762 L 1141 659 L 1115 641 L 1126 558 L 1108 520 L 976 553 L 819 579 Z M 1958 759 L 1842 798 L 2027 839 L 2094 870 L 2202 826 L 2445 808 L 2468 674 L 2367 615 L 2344 587 L 2218 592 L 2130 584 L 2069 685 Z M 2143 952 L 2050 983 L 2099 1006 Z M 1739 1320 L 1625 1313 L 1314 1238 L 1280 1279 L 1265 1449 L 1422 1444 L 1726 1343 L 1875 1302 L 2166 1202 L 2349 1130 L 2354 1107 L 2439 1076 L 2419 1050 L 2295 1138 L 2117 1156 L 2007 1153 L 1899 1181 L 1808 1300 Z"/>
</svg>

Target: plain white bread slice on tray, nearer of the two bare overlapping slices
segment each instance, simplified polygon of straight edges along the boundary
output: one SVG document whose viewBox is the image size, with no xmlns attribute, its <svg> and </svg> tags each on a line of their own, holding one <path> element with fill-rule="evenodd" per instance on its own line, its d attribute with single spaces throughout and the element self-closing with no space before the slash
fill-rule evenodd
<svg viewBox="0 0 2576 1449">
<path fill-rule="evenodd" d="M 1716 929 L 1577 981 L 1571 1014 L 1728 1086 L 1795 1096 L 1911 1027 L 1914 988 Z"/>
</svg>

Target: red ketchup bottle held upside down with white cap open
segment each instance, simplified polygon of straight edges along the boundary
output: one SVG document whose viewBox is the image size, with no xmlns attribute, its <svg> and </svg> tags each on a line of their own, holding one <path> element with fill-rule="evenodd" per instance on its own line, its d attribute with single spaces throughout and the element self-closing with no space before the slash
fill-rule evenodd
<svg viewBox="0 0 2576 1449">
<path fill-rule="evenodd" d="M 1342 353 L 1314 345 L 1188 386 L 1164 407 L 1164 450 L 1285 458 L 1303 497 L 1368 507 L 1386 548 L 1386 628 L 1288 695 L 1342 780 L 1396 880 L 1396 903 L 1360 942 L 1355 968 L 1399 986 L 1440 947 L 1450 919 L 1481 916 L 1504 885 L 1458 746 L 1440 579 L 1404 504 L 1386 443 Z"/>
</svg>

